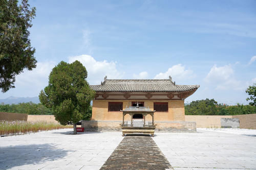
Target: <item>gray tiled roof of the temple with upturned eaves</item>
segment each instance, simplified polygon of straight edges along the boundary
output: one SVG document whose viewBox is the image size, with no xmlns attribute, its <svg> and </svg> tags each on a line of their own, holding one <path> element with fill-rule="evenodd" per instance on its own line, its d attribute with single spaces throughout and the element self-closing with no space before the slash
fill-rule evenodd
<svg viewBox="0 0 256 170">
<path fill-rule="evenodd" d="M 163 80 L 109 80 L 101 85 L 91 85 L 97 92 L 178 92 L 197 89 L 199 85 L 175 85 L 170 79 Z"/>
</svg>

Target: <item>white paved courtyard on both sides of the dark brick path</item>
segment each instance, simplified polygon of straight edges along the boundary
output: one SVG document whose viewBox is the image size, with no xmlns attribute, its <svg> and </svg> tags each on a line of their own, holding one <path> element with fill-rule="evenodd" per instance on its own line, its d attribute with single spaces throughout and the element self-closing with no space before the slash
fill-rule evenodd
<svg viewBox="0 0 256 170">
<path fill-rule="evenodd" d="M 121 132 L 71 133 L 1 137 L 0 169 L 100 169 L 124 139 Z M 151 140 L 144 137 L 136 143 Z M 156 133 L 153 140 L 174 169 L 256 169 L 256 130 Z"/>
</svg>

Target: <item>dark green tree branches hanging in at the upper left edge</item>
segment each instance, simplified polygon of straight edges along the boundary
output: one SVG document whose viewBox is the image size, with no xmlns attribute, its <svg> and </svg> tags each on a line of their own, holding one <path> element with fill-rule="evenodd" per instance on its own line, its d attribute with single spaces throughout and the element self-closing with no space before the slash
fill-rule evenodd
<svg viewBox="0 0 256 170">
<path fill-rule="evenodd" d="M 15 76 L 36 67 L 28 29 L 35 16 L 27 0 L 0 0 L 0 89 L 14 88 Z"/>
</svg>

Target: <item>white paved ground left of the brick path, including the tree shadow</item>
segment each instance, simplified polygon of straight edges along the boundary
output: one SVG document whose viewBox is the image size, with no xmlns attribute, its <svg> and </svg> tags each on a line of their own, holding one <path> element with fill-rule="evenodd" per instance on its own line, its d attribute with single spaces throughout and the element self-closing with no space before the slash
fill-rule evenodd
<svg viewBox="0 0 256 170">
<path fill-rule="evenodd" d="M 123 139 L 121 132 L 72 129 L 0 138 L 0 169 L 99 169 Z"/>
</svg>

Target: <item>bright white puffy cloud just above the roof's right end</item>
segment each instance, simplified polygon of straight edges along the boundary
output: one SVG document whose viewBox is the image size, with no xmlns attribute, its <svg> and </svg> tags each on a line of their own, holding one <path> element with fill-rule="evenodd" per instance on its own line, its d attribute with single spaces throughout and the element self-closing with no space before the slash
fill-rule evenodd
<svg viewBox="0 0 256 170">
<path fill-rule="evenodd" d="M 173 81 L 196 77 L 192 70 L 185 69 L 185 66 L 178 64 L 168 68 L 166 72 L 160 72 L 154 79 L 168 79 L 169 76 L 172 76 Z"/>
</svg>

